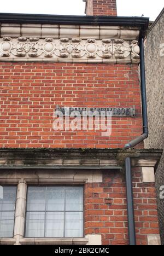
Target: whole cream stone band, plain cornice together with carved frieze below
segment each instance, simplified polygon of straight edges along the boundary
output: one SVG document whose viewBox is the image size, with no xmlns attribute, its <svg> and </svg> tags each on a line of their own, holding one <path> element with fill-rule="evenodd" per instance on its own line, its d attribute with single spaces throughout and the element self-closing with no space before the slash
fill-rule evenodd
<svg viewBox="0 0 164 256">
<path fill-rule="evenodd" d="M 139 63 L 138 28 L 1 25 L 1 61 Z"/>
</svg>

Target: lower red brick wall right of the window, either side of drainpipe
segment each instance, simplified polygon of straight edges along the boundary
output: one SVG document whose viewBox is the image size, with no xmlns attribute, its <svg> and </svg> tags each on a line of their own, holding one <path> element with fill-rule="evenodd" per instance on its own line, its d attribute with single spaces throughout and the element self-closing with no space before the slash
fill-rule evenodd
<svg viewBox="0 0 164 256">
<path fill-rule="evenodd" d="M 133 168 L 137 245 L 148 245 L 147 235 L 159 234 L 154 183 L 142 183 Z M 101 234 L 103 245 L 128 245 L 125 176 L 104 171 L 103 183 L 85 185 L 85 234 Z"/>
</svg>

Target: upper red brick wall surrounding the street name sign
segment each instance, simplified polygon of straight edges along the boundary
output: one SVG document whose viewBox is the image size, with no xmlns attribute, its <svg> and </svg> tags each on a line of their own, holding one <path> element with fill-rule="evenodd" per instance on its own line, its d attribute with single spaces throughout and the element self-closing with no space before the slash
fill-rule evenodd
<svg viewBox="0 0 164 256">
<path fill-rule="evenodd" d="M 122 148 L 142 133 L 138 66 L 0 63 L 0 147 Z M 112 136 L 52 129 L 56 105 L 136 107 L 136 118 L 113 118 Z M 140 144 L 138 147 L 143 147 Z"/>
</svg>

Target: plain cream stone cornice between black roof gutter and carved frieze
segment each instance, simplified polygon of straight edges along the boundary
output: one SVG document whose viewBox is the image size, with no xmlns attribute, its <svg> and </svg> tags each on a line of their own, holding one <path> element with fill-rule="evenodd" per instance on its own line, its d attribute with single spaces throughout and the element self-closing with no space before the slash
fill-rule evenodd
<svg viewBox="0 0 164 256">
<path fill-rule="evenodd" d="M 139 27 L 130 26 L 90 26 L 90 25 L 50 25 L 50 24 L 0 24 L 1 37 L 52 37 L 81 39 L 124 39 L 137 40 Z"/>
</svg>

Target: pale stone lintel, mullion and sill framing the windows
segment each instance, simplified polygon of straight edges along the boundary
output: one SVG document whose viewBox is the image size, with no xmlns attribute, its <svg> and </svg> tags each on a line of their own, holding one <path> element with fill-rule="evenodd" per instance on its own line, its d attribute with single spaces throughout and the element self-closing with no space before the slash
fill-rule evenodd
<svg viewBox="0 0 164 256">
<path fill-rule="evenodd" d="M 15 220 L 14 220 L 14 237 L 13 238 L 0 238 L 0 245 L 86 245 L 89 243 L 89 238 L 25 238 L 25 214 L 26 214 L 26 197 L 28 185 L 57 185 L 57 184 L 78 184 L 84 185 L 88 179 L 77 179 L 72 181 L 69 179 L 8 179 L 5 182 L 0 179 L 0 184 L 17 185 L 16 206 L 15 206 Z"/>
</svg>

